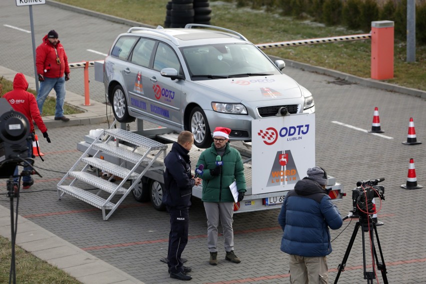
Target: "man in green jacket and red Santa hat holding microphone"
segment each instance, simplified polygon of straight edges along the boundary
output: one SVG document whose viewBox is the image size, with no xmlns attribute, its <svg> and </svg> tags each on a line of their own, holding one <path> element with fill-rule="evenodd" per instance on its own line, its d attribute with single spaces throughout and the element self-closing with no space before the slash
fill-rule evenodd
<svg viewBox="0 0 426 284">
<path fill-rule="evenodd" d="M 225 259 L 234 263 L 241 260 L 233 252 L 233 203 L 234 198 L 229 188 L 236 182 L 238 200 L 244 198 L 245 177 L 241 155 L 238 150 L 229 146 L 230 129 L 216 127 L 213 132 L 213 143 L 199 156 L 196 167 L 204 165 L 202 173 L 202 197 L 207 215 L 207 246 L 210 251 L 209 263 L 217 265 L 217 226 L 219 218 L 223 228 Z"/>
</svg>

